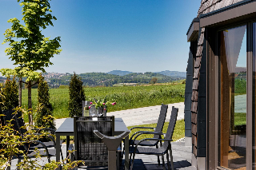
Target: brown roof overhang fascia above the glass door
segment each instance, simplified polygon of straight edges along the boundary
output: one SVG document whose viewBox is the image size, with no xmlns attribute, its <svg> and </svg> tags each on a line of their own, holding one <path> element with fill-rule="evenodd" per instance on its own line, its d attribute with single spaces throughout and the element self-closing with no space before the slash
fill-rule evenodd
<svg viewBox="0 0 256 170">
<path fill-rule="evenodd" d="M 245 0 L 200 15 L 200 27 L 224 26 L 234 22 L 246 21 L 256 16 L 256 0 Z"/>
</svg>

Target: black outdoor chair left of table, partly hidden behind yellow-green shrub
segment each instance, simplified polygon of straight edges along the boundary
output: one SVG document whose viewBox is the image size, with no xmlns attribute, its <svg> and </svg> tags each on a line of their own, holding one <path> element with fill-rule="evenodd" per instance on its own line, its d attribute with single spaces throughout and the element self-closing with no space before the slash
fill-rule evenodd
<svg viewBox="0 0 256 170">
<path fill-rule="evenodd" d="M 27 130 L 25 128 L 25 122 L 23 121 L 21 112 L 15 113 L 14 110 L 4 110 L 3 114 L 5 115 L 3 117 L 4 125 L 7 125 L 7 123 L 10 121 L 12 127 L 14 128 L 14 132 L 17 132 L 17 135 L 20 135 L 20 136 L 27 135 L 26 134 Z M 37 132 L 40 132 L 42 130 L 55 132 L 54 129 L 51 129 L 51 128 L 37 129 Z M 41 135 L 41 134 L 35 133 L 35 135 Z M 50 162 L 50 157 L 56 156 L 56 149 L 55 149 L 56 142 L 54 140 L 54 136 L 48 135 L 46 137 L 48 139 L 50 139 L 51 141 L 42 142 L 39 140 L 34 140 L 34 141 L 30 141 L 30 143 L 24 142 L 24 144 L 19 149 L 25 151 L 26 156 L 28 156 L 28 158 L 32 158 L 35 156 L 34 149 L 38 148 L 39 149 L 38 151 L 40 152 L 39 153 L 40 156 L 46 156 L 48 159 L 48 162 Z M 44 150 L 42 150 L 42 149 L 40 150 L 40 148 L 44 148 Z M 61 155 L 62 155 L 62 152 L 61 152 Z M 24 158 L 24 156 L 17 155 L 17 158 L 18 158 L 18 162 L 20 162 L 21 159 Z M 62 160 L 63 160 L 63 156 L 62 156 Z"/>
</svg>

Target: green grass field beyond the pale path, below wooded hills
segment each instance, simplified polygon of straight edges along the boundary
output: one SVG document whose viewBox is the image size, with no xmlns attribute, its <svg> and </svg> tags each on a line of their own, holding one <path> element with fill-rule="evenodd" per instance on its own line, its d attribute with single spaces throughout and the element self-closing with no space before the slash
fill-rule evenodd
<svg viewBox="0 0 256 170">
<path fill-rule="evenodd" d="M 50 89 L 50 103 L 54 108 L 54 117 L 69 117 L 69 89 Z M 184 101 L 185 84 L 148 85 L 123 87 L 85 88 L 86 100 L 104 98 L 114 100 L 117 105 L 108 107 L 108 112 L 124 109 L 135 109 L 152 105 L 177 103 Z M 38 90 L 32 89 L 32 107 L 38 104 Z M 27 106 L 27 89 L 22 90 L 22 105 Z M 25 117 L 25 121 L 27 118 Z"/>
</svg>

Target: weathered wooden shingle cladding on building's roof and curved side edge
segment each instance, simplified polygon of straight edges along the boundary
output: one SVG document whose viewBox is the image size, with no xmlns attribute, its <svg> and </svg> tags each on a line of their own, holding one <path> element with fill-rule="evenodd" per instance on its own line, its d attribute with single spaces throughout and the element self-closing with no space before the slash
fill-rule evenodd
<svg viewBox="0 0 256 170">
<path fill-rule="evenodd" d="M 243 0 L 202 0 L 198 16 L 230 6 Z M 191 95 L 191 133 L 195 156 L 206 157 L 206 43 L 205 28 L 198 34 L 196 58 L 194 60 Z"/>
</svg>

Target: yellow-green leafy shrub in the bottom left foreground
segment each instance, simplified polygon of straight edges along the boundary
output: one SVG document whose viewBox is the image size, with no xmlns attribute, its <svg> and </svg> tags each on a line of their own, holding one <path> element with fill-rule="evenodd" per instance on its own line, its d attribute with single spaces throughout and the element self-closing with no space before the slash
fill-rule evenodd
<svg viewBox="0 0 256 170">
<path fill-rule="evenodd" d="M 13 113 L 13 116 L 18 112 L 22 112 L 22 114 L 27 114 L 27 111 L 25 109 L 17 108 L 15 110 L 16 111 L 15 113 Z M 48 121 L 48 117 L 43 117 L 42 119 L 44 121 Z M 22 145 L 24 145 L 25 143 L 33 144 L 34 140 L 42 140 L 45 138 L 45 136 L 49 136 L 50 133 L 44 131 L 39 132 L 39 130 L 36 130 L 38 128 L 44 127 L 25 125 L 24 128 L 30 129 L 30 135 L 22 135 L 18 131 L 15 131 L 13 125 L 11 124 L 11 121 L 7 122 L 6 125 L 0 125 L 0 169 L 10 169 L 11 160 L 15 157 L 15 155 L 18 154 L 24 156 L 24 159 L 16 164 L 18 169 L 52 170 L 62 165 L 62 169 L 70 170 L 74 169 L 74 167 L 82 163 L 81 160 L 71 161 L 68 157 L 65 160 L 59 162 L 56 162 L 55 160 L 50 160 L 50 163 L 39 164 L 41 156 L 39 155 L 39 151 L 37 148 L 34 149 L 34 152 L 37 153 L 37 156 L 35 156 L 34 160 L 30 160 L 28 158 L 28 154 L 30 152 L 24 152 L 22 150 L 19 150 L 18 148 L 22 148 Z"/>
</svg>

